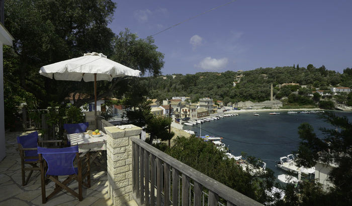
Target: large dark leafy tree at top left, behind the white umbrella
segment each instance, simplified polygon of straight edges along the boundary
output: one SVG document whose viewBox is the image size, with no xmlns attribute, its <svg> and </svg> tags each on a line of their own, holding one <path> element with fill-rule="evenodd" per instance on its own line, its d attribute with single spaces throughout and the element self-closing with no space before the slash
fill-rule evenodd
<svg viewBox="0 0 352 206">
<path fill-rule="evenodd" d="M 110 0 L 6 1 L 5 24 L 15 37 L 12 58 L 18 61 L 12 80 L 41 106 L 62 101 L 79 82 L 50 80 L 38 68 L 86 52 L 111 53 L 114 33 L 108 24 L 114 9 Z"/>
</svg>

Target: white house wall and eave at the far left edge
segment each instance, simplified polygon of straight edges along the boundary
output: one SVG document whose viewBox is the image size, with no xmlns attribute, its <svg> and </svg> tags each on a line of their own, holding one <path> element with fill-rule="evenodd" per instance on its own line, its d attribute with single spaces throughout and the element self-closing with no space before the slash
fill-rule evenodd
<svg viewBox="0 0 352 206">
<path fill-rule="evenodd" d="M 4 26 L 4 1 L 0 4 L 0 161 L 4 159 L 6 153 L 5 147 L 5 111 L 4 111 L 4 62 L 3 62 L 3 45 L 12 46 L 14 37 L 11 36 Z"/>
</svg>

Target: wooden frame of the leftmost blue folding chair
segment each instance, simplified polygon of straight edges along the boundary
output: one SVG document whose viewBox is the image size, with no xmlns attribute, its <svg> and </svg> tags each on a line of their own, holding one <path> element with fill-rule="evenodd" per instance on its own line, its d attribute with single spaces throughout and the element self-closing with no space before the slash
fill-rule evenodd
<svg viewBox="0 0 352 206">
<path fill-rule="evenodd" d="M 41 140 L 38 141 L 38 145 L 43 146 L 45 143 L 58 143 L 59 146 L 62 146 L 62 140 Z M 21 144 L 18 144 L 18 149 L 20 151 L 21 157 L 21 175 L 22 175 L 22 186 L 26 186 L 28 184 L 29 179 L 32 176 L 34 170 L 40 171 L 39 163 L 39 156 L 26 156 L 25 151 L 33 151 L 37 150 L 36 147 L 34 148 L 23 148 Z M 26 161 L 26 159 L 38 159 L 37 161 Z M 26 167 L 26 165 L 30 165 L 31 167 Z M 26 178 L 26 171 L 30 171 L 27 178 Z"/>
</svg>

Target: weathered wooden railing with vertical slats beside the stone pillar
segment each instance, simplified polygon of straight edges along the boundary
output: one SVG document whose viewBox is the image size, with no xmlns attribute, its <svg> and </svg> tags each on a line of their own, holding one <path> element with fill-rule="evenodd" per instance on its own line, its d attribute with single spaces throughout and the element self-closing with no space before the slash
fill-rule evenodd
<svg viewBox="0 0 352 206">
<path fill-rule="evenodd" d="M 132 191 L 139 205 L 262 205 L 138 138 L 131 140 Z"/>
</svg>

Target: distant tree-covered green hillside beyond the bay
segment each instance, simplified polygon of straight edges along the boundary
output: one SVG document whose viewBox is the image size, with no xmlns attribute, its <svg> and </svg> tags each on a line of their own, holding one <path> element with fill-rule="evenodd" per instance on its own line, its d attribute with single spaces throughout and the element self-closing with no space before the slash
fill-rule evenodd
<svg viewBox="0 0 352 206">
<path fill-rule="evenodd" d="M 264 101 L 270 99 L 271 83 L 275 87 L 274 95 L 281 92 L 279 84 L 291 82 L 307 85 L 310 91 L 316 88 L 328 89 L 329 85 L 352 87 L 352 69 L 347 68 L 340 74 L 327 70 L 324 66 L 315 68 L 310 64 L 307 68 L 287 66 L 244 72 L 199 72 L 144 77 L 141 81 L 150 88 L 150 97 L 158 99 L 190 96 L 192 101 L 198 101 L 201 97 L 212 97 L 225 103 L 240 100 Z M 280 97 L 283 96 L 285 95 L 281 93 Z"/>
</svg>

